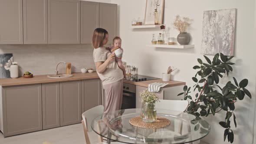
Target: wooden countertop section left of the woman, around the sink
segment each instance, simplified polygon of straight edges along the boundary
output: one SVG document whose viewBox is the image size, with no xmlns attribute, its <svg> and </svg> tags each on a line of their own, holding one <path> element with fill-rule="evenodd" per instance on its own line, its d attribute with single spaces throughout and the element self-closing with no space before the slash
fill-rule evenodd
<svg viewBox="0 0 256 144">
<path fill-rule="evenodd" d="M 74 81 L 81 79 L 97 79 L 99 78 L 96 72 L 93 73 L 72 73 L 72 77 L 54 79 L 48 78 L 47 75 L 34 75 L 33 78 L 6 78 L 0 79 L 1 86 L 11 86 L 11 85 L 27 85 L 27 84 L 38 84 L 38 83 L 47 83 L 47 82 L 65 82 L 65 81 Z"/>
</svg>

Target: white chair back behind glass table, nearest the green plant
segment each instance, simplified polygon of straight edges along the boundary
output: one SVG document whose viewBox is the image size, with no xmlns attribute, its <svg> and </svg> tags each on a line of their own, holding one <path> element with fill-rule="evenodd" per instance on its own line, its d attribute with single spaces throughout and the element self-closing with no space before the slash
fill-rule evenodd
<svg viewBox="0 0 256 144">
<path fill-rule="evenodd" d="M 165 100 L 160 99 L 156 102 L 156 108 L 168 109 L 172 111 L 185 111 L 188 106 L 188 101 L 184 100 Z"/>
</svg>

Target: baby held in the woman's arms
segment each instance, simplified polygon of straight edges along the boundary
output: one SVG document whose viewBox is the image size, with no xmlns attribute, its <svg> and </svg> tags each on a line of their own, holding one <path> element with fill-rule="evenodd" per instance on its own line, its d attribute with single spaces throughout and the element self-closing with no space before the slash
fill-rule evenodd
<svg viewBox="0 0 256 144">
<path fill-rule="evenodd" d="M 121 38 L 116 36 L 113 39 L 113 46 L 109 49 L 111 51 L 111 53 L 114 53 L 114 51 L 116 49 L 121 49 L 122 51 L 124 51 L 121 48 L 121 44 L 122 44 Z M 115 57 L 115 61 L 117 62 L 119 68 L 123 71 L 123 74 L 124 74 L 124 77 L 125 77 L 126 76 L 126 71 L 125 71 L 125 67 L 124 67 L 123 62 L 122 62 L 122 57 Z"/>
</svg>

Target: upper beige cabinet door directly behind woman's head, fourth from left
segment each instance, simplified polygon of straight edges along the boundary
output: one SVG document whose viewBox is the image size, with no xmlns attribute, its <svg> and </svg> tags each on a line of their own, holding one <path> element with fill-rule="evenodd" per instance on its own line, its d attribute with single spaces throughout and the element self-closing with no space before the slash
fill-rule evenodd
<svg viewBox="0 0 256 144">
<path fill-rule="evenodd" d="M 92 43 L 92 35 L 99 27 L 99 3 L 81 1 L 81 43 Z"/>
</svg>

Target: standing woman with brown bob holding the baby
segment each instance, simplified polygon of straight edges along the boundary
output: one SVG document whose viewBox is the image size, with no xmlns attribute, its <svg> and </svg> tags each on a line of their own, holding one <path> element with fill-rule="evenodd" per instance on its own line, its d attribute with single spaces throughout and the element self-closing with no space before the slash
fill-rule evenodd
<svg viewBox="0 0 256 144">
<path fill-rule="evenodd" d="M 92 36 L 93 60 L 96 71 L 102 80 L 104 95 L 104 113 L 121 109 L 123 72 L 115 62 L 115 53 L 111 53 L 104 46 L 108 43 L 108 32 L 97 28 Z"/>
</svg>

